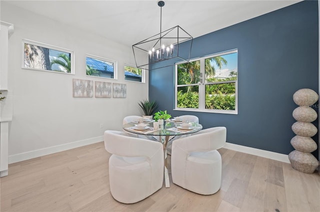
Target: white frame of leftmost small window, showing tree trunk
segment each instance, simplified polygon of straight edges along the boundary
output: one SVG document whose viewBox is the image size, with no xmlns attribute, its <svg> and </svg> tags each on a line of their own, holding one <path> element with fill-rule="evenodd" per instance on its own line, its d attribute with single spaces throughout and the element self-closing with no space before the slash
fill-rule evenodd
<svg viewBox="0 0 320 212">
<path fill-rule="evenodd" d="M 36 45 L 36 46 L 40 46 L 40 47 L 44 47 L 44 48 L 48 48 L 48 49 L 52 49 L 52 50 L 56 50 L 56 51 L 62 51 L 62 52 L 66 52 L 70 54 L 70 73 L 66 73 L 66 72 L 61 72 L 61 71 L 54 71 L 54 70 L 45 70 L 45 69 L 38 69 L 38 68 L 28 68 L 25 67 L 25 53 L 24 53 L 24 45 L 25 44 L 30 44 L 30 45 Z M 74 51 L 67 49 L 67 48 L 62 48 L 62 47 L 58 47 L 58 46 L 54 46 L 54 45 L 50 45 L 50 44 L 46 44 L 46 43 L 41 43 L 41 42 L 37 42 L 37 41 L 33 41 L 33 40 L 29 40 L 29 39 L 22 39 L 22 57 L 21 57 L 21 68 L 23 69 L 27 69 L 27 70 L 36 70 L 36 71 L 45 71 L 45 72 L 50 72 L 50 73 L 60 73 L 60 74 L 72 74 L 74 75 Z"/>
</svg>

